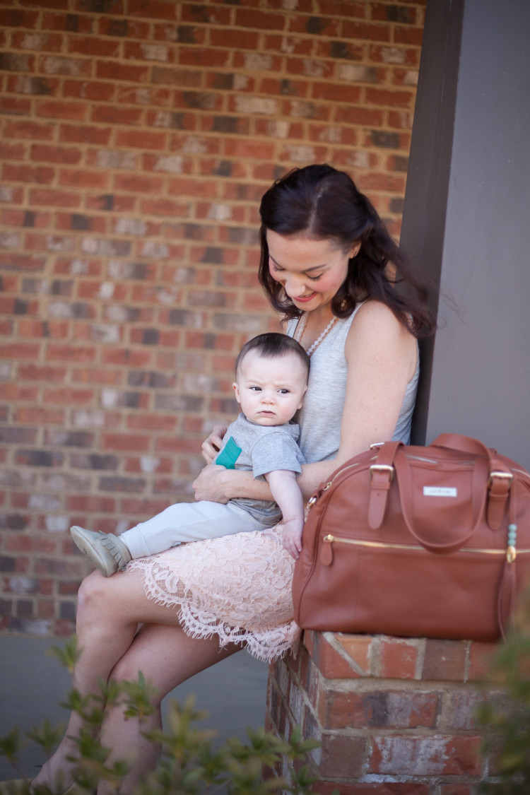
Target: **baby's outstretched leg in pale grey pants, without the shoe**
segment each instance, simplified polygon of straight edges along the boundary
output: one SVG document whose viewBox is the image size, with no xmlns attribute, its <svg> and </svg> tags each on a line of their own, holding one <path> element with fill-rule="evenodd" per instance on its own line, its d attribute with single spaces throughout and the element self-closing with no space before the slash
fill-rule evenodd
<svg viewBox="0 0 530 795">
<path fill-rule="evenodd" d="M 246 510 L 232 503 L 222 502 L 176 502 L 120 536 L 133 558 L 164 552 L 186 541 L 203 541 L 233 533 L 248 533 L 261 530 L 264 525 L 257 522 Z"/>
</svg>

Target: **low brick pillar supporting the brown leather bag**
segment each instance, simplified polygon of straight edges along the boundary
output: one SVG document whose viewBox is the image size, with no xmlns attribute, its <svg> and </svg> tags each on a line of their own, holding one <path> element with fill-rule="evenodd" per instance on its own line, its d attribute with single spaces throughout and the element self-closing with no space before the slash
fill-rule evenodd
<svg viewBox="0 0 530 795">
<path fill-rule="evenodd" d="M 319 795 L 471 795 L 486 780 L 478 704 L 496 646 L 305 632 L 297 657 L 270 666 L 267 728 L 322 746 Z M 286 772 L 286 771 L 283 771 Z"/>
</svg>

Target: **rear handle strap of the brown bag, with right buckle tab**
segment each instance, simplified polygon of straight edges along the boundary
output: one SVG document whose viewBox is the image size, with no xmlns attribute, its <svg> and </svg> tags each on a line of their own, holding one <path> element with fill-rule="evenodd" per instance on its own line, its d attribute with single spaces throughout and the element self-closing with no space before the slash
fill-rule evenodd
<svg viewBox="0 0 530 795">
<path fill-rule="evenodd" d="M 485 456 L 489 466 L 486 521 L 490 529 L 498 530 L 508 505 L 513 472 L 497 456 L 497 450 L 486 447 L 486 444 L 482 444 L 478 439 L 460 436 L 458 433 L 440 433 L 433 441 L 432 447 L 469 452 L 473 456 Z"/>
</svg>

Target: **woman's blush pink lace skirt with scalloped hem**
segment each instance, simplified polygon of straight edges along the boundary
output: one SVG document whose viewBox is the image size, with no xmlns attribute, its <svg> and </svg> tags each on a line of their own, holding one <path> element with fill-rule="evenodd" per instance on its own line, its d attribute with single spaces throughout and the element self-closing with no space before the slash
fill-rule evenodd
<svg viewBox="0 0 530 795">
<path fill-rule="evenodd" d="M 270 662 L 296 650 L 300 640 L 293 565 L 277 525 L 182 544 L 132 560 L 127 568 L 142 573 L 149 599 L 180 610 L 180 622 L 194 638 L 217 634 L 220 646 L 242 643 Z"/>
</svg>

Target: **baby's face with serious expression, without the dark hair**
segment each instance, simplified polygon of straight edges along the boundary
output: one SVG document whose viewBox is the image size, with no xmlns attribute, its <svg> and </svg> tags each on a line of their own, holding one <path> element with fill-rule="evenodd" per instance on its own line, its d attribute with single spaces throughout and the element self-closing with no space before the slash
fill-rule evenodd
<svg viewBox="0 0 530 795">
<path fill-rule="evenodd" d="M 265 358 L 250 351 L 239 366 L 235 397 L 255 425 L 285 425 L 302 405 L 307 371 L 296 354 Z"/>
</svg>

